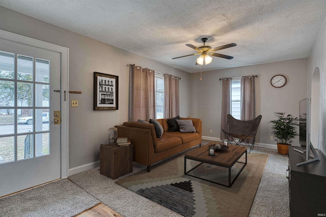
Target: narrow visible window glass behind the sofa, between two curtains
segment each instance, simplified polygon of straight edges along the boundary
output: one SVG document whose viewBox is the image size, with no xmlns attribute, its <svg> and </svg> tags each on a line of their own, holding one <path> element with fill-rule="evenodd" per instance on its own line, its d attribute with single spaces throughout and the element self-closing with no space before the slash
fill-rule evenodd
<svg viewBox="0 0 326 217">
<path fill-rule="evenodd" d="M 155 76 L 156 119 L 164 117 L 164 77 Z"/>
</svg>

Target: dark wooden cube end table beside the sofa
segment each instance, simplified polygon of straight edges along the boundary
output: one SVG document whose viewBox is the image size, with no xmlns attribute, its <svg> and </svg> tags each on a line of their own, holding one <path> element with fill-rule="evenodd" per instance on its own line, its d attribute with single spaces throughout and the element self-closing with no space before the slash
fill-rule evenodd
<svg viewBox="0 0 326 217">
<path fill-rule="evenodd" d="M 100 146 L 100 174 L 116 179 L 132 172 L 132 145 Z"/>
</svg>

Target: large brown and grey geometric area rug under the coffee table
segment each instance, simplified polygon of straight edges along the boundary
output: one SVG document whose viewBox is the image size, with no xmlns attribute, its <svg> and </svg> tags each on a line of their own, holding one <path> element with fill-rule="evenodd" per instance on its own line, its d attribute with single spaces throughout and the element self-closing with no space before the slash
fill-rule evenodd
<svg viewBox="0 0 326 217">
<path fill-rule="evenodd" d="M 184 155 L 152 166 L 116 181 L 122 187 L 183 216 L 248 216 L 260 179 L 268 160 L 267 154 L 250 153 L 248 162 L 231 188 L 184 175 Z M 244 157 L 240 159 L 244 162 Z M 188 166 L 197 164 L 187 160 Z M 238 168 L 232 168 L 236 172 Z M 228 172 L 202 164 L 197 175 L 225 180 Z"/>
</svg>

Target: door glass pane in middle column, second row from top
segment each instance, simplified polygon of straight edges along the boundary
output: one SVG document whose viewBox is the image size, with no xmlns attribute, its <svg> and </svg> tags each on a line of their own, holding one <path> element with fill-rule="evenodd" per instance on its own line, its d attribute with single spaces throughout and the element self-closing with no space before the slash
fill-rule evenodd
<svg viewBox="0 0 326 217">
<path fill-rule="evenodd" d="M 17 106 L 33 106 L 33 83 L 17 82 Z"/>
</svg>

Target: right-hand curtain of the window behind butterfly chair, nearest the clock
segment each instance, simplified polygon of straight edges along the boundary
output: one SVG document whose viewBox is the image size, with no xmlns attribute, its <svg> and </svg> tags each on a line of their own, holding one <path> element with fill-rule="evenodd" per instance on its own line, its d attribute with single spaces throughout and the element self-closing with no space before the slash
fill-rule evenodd
<svg viewBox="0 0 326 217">
<path fill-rule="evenodd" d="M 241 77 L 241 120 L 256 117 L 255 76 Z"/>
</svg>

